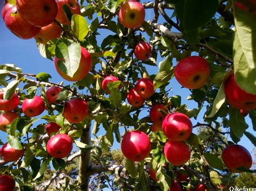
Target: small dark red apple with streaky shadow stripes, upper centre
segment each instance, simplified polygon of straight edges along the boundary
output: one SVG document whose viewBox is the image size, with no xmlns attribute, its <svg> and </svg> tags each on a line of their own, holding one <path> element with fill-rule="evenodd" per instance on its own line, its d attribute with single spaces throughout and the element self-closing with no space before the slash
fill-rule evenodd
<svg viewBox="0 0 256 191">
<path fill-rule="evenodd" d="M 147 60 L 151 56 L 151 47 L 148 43 L 140 42 L 134 48 L 134 54 L 138 60 Z"/>
</svg>

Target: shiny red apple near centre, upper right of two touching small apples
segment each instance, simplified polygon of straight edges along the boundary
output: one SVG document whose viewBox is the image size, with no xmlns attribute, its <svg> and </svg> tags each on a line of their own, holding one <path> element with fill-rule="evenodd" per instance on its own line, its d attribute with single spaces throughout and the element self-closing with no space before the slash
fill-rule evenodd
<svg viewBox="0 0 256 191">
<path fill-rule="evenodd" d="M 149 78 L 141 78 L 136 83 L 135 87 L 137 93 L 143 98 L 149 98 L 154 94 L 154 84 Z"/>
</svg>

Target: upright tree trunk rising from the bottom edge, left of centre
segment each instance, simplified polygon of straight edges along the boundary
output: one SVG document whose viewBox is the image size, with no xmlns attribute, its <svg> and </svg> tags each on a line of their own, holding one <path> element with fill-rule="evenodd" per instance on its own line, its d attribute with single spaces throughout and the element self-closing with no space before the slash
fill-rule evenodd
<svg viewBox="0 0 256 191">
<path fill-rule="evenodd" d="M 83 129 L 83 135 L 80 141 L 86 145 L 91 145 L 91 122 L 89 122 L 86 125 L 86 128 Z M 90 176 L 87 175 L 87 170 L 90 167 L 91 150 L 81 151 L 78 182 L 80 184 L 80 190 L 87 190 L 90 181 Z"/>
</svg>

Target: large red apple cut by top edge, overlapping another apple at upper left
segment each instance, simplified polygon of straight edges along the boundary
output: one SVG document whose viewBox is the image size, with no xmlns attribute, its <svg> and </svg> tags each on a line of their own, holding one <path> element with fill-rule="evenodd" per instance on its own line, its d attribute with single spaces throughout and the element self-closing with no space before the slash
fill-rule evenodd
<svg viewBox="0 0 256 191">
<path fill-rule="evenodd" d="M 55 0 L 16 0 L 16 6 L 24 20 L 38 27 L 51 24 L 58 12 Z"/>
</svg>

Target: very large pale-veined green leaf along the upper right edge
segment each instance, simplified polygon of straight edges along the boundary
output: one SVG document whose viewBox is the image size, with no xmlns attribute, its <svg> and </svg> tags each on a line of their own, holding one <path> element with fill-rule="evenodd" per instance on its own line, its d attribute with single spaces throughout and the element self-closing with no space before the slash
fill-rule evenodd
<svg viewBox="0 0 256 191">
<path fill-rule="evenodd" d="M 256 50 L 254 15 L 234 6 L 235 37 L 233 44 L 235 81 L 247 93 L 256 94 Z"/>
</svg>

